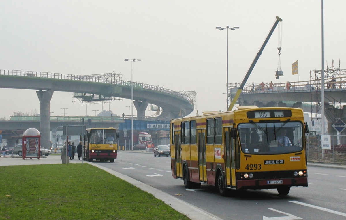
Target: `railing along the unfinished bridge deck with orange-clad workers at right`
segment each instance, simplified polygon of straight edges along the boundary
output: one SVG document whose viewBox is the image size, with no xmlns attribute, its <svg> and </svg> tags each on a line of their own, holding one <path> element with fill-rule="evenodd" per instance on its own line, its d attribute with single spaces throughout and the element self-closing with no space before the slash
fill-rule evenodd
<svg viewBox="0 0 346 220">
<path fill-rule="evenodd" d="M 333 79 L 335 81 L 333 81 Z M 325 79 L 324 88 L 326 91 L 346 90 L 346 77 L 335 77 Z M 240 83 L 229 83 L 230 94 L 234 95 Z M 276 93 L 276 92 L 310 92 L 321 90 L 321 79 L 297 82 L 248 82 L 245 83 L 243 93 Z"/>
</svg>

